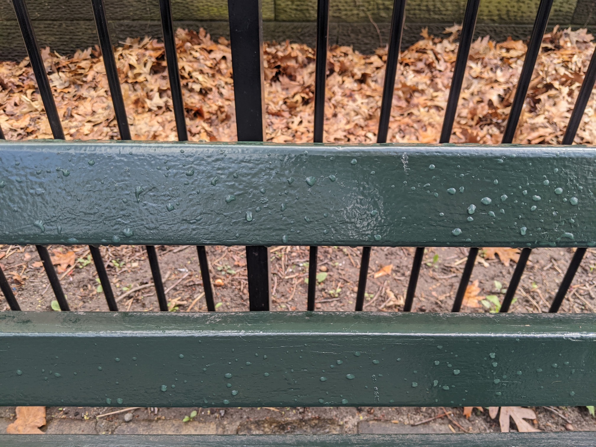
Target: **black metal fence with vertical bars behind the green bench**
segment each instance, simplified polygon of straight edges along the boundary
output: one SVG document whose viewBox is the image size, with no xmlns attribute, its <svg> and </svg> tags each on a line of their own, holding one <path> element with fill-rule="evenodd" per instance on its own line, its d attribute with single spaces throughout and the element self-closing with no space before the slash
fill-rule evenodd
<svg viewBox="0 0 596 447">
<path fill-rule="evenodd" d="M 502 143 L 507 144 L 513 141 L 519 122 L 520 114 L 524 101 L 526 99 L 527 89 L 532 79 L 532 72 L 541 49 L 542 36 L 547 27 L 548 17 L 550 15 L 553 0 L 541 0 L 538 13 L 533 25 L 532 36 L 527 46 L 526 57 L 523 63 L 522 73 L 517 84 L 516 94 L 511 105 L 511 113 L 507 121 L 507 126 L 502 138 Z M 120 138 L 123 140 L 131 139 L 131 132 L 126 117 L 126 109 L 120 89 L 120 81 L 114 60 L 113 48 L 110 43 L 108 33 L 107 19 L 103 0 L 91 0 L 94 11 L 97 33 L 100 41 L 101 51 L 103 52 L 105 72 L 110 86 L 110 94 L 114 105 L 114 113 L 120 131 Z M 170 91 L 172 94 L 173 110 L 176 120 L 176 131 L 179 141 L 187 141 L 188 134 L 185 123 L 184 101 L 182 100 L 182 89 L 178 70 L 178 57 L 176 54 L 175 35 L 172 23 L 172 11 L 170 0 L 159 0 L 160 13 L 162 18 L 162 27 L 164 35 L 164 45 L 166 50 L 167 70 L 169 74 Z M 391 21 L 391 33 L 389 41 L 389 53 L 387 55 L 386 75 L 383 86 L 383 98 L 381 102 L 380 120 L 378 124 L 377 142 L 387 141 L 387 132 L 389 129 L 389 119 L 393 100 L 393 89 L 395 87 L 395 76 L 399 61 L 399 49 L 401 45 L 403 23 L 405 18 L 406 0 L 395 0 L 393 5 L 393 15 Z M 461 86 L 464 79 L 465 67 L 467 64 L 468 53 L 474 34 L 476 16 L 480 0 L 468 0 L 465 8 L 464 22 L 460 35 L 460 44 L 458 48 L 457 60 L 455 61 L 454 75 L 449 91 L 448 103 L 445 109 L 442 132 L 439 143 L 449 142 L 454 124 L 455 114 L 457 112 L 458 100 L 460 98 Z M 60 123 L 60 117 L 52 97 L 48 77 L 46 76 L 44 62 L 39 52 L 39 47 L 35 39 L 35 32 L 27 11 L 25 0 L 13 0 L 14 10 L 17 14 L 18 23 L 23 34 L 24 43 L 29 53 L 29 59 L 39 92 L 44 103 L 49 125 L 55 139 L 64 139 L 64 131 Z M 232 69 L 234 70 L 234 94 L 235 109 L 237 119 L 238 141 L 263 141 L 263 38 L 262 38 L 262 18 L 259 0 L 228 0 L 229 27 L 232 48 Z M 316 68 L 315 68 L 315 120 L 314 120 L 314 141 L 323 141 L 324 131 L 324 108 L 325 108 L 325 78 L 327 73 L 327 45 L 328 45 L 328 20 L 329 20 L 329 0 L 318 0 L 318 11 L 316 21 Z M 592 55 L 588 70 L 585 74 L 578 100 L 569 120 L 566 133 L 563 137 L 563 144 L 572 144 L 575 134 L 581 122 L 583 112 L 596 81 L 596 60 Z M 0 138 L 4 139 L 2 129 L 0 129 Z M 62 311 L 69 311 L 64 292 L 60 281 L 52 265 L 48 250 L 44 246 L 36 246 L 39 257 L 41 258 L 45 272 L 48 275 L 49 283 L 52 286 L 55 297 Z M 159 260 L 156 249 L 153 246 L 145 247 L 148 260 L 153 275 L 153 283 L 156 288 L 157 299 L 159 301 L 160 311 L 167 311 L 167 300 L 160 274 Z M 98 277 L 105 294 L 105 299 L 110 311 L 117 311 L 116 300 L 111 289 L 110 280 L 105 270 L 100 250 L 97 247 L 89 247 L 93 257 Z M 452 312 L 459 312 L 465 290 L 474 268 L 474 263 L 479 249 L 471 248 L 465 263 L 464 271 L 461 276 Z M 524 248 L 520 254 L 510 285 L 507 288 L 500 312 L 508 312 L 517 286 L 522 278 L 527 260 L 532 252 L 529 248 Z M 213 291 L 209 277 L 209 267 L 207 264 L 207 255 L 204 246 L 197 246 L 198 262 L 203 278 L 204 293 L 207 302 L 207 309 L 215 311 L 213 303 Z M 582 262 L 586 248 L 576 249 L 573 259 L 570 262 L 563 281 L 558 288 L 557 294 L 551 304 L 549 312 L 557 312 L 563 302 L 563 299 L 573 281 L 573 277 Z M 362 259 L 358 281 L 358 293 L 356 294 L 356 311 L 362 311 L 364 305 L 364 293 L 367 285 L 368 265 L 370 262 L 371 247 L 362 247 Z M 415 250 L 412 270 L 409 278 L 408 289 L 403 311 L 409 312 L 412 309 L 414 301 L 416 284 L 420 267 L 423 260 L 424 248 L 418 247 Z M 263 246 L 246 247 L 246 260 L 249 281 L 249 297 L 251 311 L 268 311 L 270 302 L 270 284 L 269 284 L 269 249 Z M 309 256 L 309 287 L 308 287 L 308 310 L 315 309 L 315 285 L 316 285 L 316 262 L 317 247 L 310 247 Z M 4 273 L 0 269 L 0 289 L 7 299 L 11 310 L 19 311 L 20 307 L 8 284 Z"/>
</svg>

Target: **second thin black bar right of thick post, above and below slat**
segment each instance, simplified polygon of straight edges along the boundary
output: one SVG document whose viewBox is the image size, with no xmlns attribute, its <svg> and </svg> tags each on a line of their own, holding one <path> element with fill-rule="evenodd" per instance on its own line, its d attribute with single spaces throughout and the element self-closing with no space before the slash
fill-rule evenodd
<svg viewBox="0 0 596 447">
<path fill-rule="evenodd" d="M 377 143 L 387 142 L 389 132 L 389 119 L 393 103 L 393 89 L 395 89 L 395 76 L 398 72 L 399 47 L 402 44 L 403 21 L 405 20 L 406 0 L 393 1 L 391 15 L 391 31 L 389 35 L 389 50 L 385 64 L 385 79 L 383 82 L 383 97 L 381 98 L 381 113 L 378 120 Z M 358 278 L 358 292 L 356 293 L 356 311 L 362 310 L 364 293 L 367 288 L 368 265 L 370 264 L 371 248 L 362 247 L 360 260 L 360 275 Z M 360 301 L 360 305 L 358 305 Z"/>
</svg>

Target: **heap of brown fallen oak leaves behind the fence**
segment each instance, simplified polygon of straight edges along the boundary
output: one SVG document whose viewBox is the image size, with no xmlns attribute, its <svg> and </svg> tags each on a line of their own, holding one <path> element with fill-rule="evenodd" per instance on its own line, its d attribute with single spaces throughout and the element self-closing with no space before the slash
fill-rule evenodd
<svg viewBox="0 0 596 447">
<path fill-rule="evenodd" d="M 454 26 L 447 37 L 430 36 L 405 49 L 398 67 L 389 141 L 439 140 L 457 55 Z M 190 138 L 234 141 L 235 110 L 229 42 L 200 32 L 176 32 Z M 594 44 L 585 29 L 555 27 L 544 36 L 516 142 L 561 141 Z M 163 44 L 128 39 L 114 49 L 135 139 L 176 139 Z M 471 46 L 452 142 L 501 141 L 526 45 L 488 36 Z M 100 51 L 72 57 L 42 51 L 67 138 L 119 138 Z M 266 138 L 308 142 L 313 138 L 315 51 L 301 44 L 265 44 Z M 362 55 L 333 46 L 328 57 L 325 141 L 374 142 L 387 49 Z M 576 142 L 596 142 L 589 104 Z M 29 60 L 0 62 L 0 126 L 8 139 L 51 138 Z"/>
</svg>

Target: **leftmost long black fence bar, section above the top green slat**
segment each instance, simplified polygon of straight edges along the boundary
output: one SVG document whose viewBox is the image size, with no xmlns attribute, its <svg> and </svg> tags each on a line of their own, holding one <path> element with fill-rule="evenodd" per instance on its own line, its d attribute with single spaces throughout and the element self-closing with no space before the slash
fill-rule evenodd
<svg viewBox="0 0 596 447">
<path fill-rule="evenodd" d="M 18 26 L 21 29 L 23 35 L 23 41 L 27 48 L 27 54 L 29 54 L 29 61 L 35 75 L 35 80 L 38 85 L 39 95 L 44 102 L 44 108 L 46 116 L 48 116 L 49 127 L 52 129 L 52 135 L 55 139 L 64 139 L 64 131 L 60 123 L 60 117 L 58 116 L 58 110 L 54 103 L 54 97 L 52 97 L 52 90 L 49 87 L 48 76 L 45 73 L 44 60 L 41 58 L 39 53 L 39 47 L 35 38 L 35 32 L 29 18 L 29 12 L 27 11 L 27 5 L 25 0 L 13 0 L 14 11 L 17 14 Z M 51 265 L 51 264 L 50 264 Z"/>
</svg>

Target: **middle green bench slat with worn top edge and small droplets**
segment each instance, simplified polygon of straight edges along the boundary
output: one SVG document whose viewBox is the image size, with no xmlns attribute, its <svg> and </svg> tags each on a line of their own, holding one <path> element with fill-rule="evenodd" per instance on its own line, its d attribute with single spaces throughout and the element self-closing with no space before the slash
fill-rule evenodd
<svg viewBox="0 0 596 447">
<path fill-rule="evenodd" d="M 2 312 L 0 405 L 596 402 L 596 315 Z"/>
</svg>

